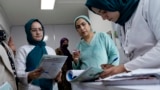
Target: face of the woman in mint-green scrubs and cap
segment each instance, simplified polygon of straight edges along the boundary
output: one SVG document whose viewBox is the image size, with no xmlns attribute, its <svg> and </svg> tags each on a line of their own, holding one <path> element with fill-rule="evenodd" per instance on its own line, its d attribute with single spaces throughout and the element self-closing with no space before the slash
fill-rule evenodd
<svg viewBox="0 0 160 90">
<path fill-rule="evenodd" d="M 84 20 L 83 18 L 80 18 L 76 21 L 76 30 L 78 31 L 79 35 L 83 38 L 89 35 L 91 32 L 91 26 L 90 24 Z"/>
</svg>

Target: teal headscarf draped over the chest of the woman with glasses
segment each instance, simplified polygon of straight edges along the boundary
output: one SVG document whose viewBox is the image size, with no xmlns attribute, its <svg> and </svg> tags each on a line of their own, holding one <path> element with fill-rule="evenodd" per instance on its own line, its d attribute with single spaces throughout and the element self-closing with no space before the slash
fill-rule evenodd
<svg viewBox="0 0 160 90">
<path fill-rule="evenodd" d="M 27 66 L 29 67 L 28 68 L 29 71 L 32 71 L 37 67 L 38 63 L 40 62 L 41 57 L 43 56 L 43 54 L 47 54 L 46 48 L 45 48 L 46 44 L 45 44 L 45 42 L 43 42 L 44 27 L 41 24 L 42 29 L 43 29 L 42 40 L 41 41 L 36 41 L 36 40 L 33 39 L 32 34 L 31 34 L 31 27 L 32 27 L 33 22 L 39 22 L 41 24 L 41 22 L 38 19 L 30 19 L 25 24 L 25 32 L 26 32 L 26 35 L 27 35 L 27 41 L 28 41 L 29 44 L 35 45 L 35 47 L 31 50 L 31 52 L 27 56 L 27 61 L 31 61 L 31 62 L 27 63 Z"/>
</svg>

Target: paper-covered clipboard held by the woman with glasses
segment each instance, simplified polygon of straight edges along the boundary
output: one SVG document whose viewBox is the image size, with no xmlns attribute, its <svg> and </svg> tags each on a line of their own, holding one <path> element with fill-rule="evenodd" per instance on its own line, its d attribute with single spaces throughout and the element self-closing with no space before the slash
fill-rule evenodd
<svg viewBox="0 0 160 90">
<path fill-rule="evenodd" d="M 65 63 L 67 56 L 44 55 L 39 67 L 42 67 L 44 72 L 39 78 L 53 79 L 57 76 Z"/>
</svg>

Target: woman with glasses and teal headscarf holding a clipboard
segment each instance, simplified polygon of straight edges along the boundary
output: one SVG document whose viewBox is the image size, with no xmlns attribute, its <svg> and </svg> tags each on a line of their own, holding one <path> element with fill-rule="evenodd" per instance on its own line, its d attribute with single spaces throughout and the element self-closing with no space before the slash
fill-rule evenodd
<svg viewBox="0 0 160 90">
<path fill-rule="evenodd" d="M 25 24 L 27 45 L 16 53 L 16 70 L 20 81 L 19 90 L 53 90 L 53 79 L 38 78 L 43 72 L 38 68 L 44 54 L 56 55 L 55 51 L 43 41 L 45 30 L 38 19 L 30 19 Z"/>
</svg>

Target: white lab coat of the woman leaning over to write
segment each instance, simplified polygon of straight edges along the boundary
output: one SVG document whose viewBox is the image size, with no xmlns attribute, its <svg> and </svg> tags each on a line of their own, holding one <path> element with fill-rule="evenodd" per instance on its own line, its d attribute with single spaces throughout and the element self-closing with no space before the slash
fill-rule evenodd
<svg viewBox="0 0 160 90">
<path fill-rule="evenodd" d="M 130 59 L 125 68 L 160 68 L 160 0 L 140 0 L 125 30 L 119 27 L 122 48 Z"/>
</svg>

